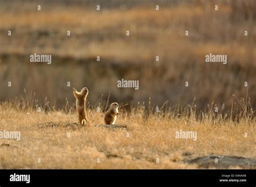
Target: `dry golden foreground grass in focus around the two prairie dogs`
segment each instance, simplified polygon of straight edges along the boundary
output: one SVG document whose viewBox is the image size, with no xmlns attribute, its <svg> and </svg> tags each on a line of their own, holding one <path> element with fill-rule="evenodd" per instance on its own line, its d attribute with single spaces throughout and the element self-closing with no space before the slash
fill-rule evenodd
<svg viewBox="0 0 256 187">
<path fill-rule="evenodd" d="M 0 168 L 191 169 L 198 166 L 185 160 L 198 156 L 256 159 L 256 123 L 245 111 L 232 119 L 228 114 L 215 116 L 209 109 L 199 119 L 193 105 L 183 111 L 163 106 L 155 113 L 138 104 L 130 112 L 120 110 L 117 125 L 126 128 L 106 128 L 100 104 L 100 112 L 92 107 L 87 111 L 91 124 L 85 127 L 76 124 L 71 106 L 48 114 L 37 112 L 36 106 L 28 98 L 0 105 L 0 130 L 21 132 L 20 141 L 0 140 Z M 150 103 L 148 107 L 153 108 Z M 196 131 L 197 140 L 176 139 L 179 130 Z"/>
</svg>

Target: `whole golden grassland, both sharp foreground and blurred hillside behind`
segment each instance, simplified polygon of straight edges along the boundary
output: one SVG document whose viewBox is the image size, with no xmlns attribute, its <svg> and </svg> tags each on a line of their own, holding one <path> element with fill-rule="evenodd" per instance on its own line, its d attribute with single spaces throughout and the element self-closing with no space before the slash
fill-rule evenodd
<svg viewBox="0 0 256 187">
<path fill-rule="evenodd" d="M 255 162 L 256 2 L 150 2 L 0 0 L 0 132 L 21 132 L 20 141 L 0 139 L 0 169 L 256 168 L 190 162 Z M 31 63 L 35 53 L 52 63 Z M 210 53 L 227 64 L 206 63 Z M 118 88 L 122 79 L 139 89 Z M 89 89 L 89 126 L 77 124 L 72 87 Z M 123 107 L 117 126 L 105 126 L 112 102 Z"/>
</svg>

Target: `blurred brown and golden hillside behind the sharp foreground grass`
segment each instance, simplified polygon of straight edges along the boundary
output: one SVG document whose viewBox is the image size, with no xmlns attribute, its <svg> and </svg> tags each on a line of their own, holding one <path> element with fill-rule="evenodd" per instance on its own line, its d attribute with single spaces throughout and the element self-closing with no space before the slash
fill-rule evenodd
<svg viewBox="0 0 256 187">
<path fill-rule="evenodd" d="M 75 102 L 72 87 L 87 87 L 92 105 L 111 92 L 110 102 L 185 106 L 196 97 L 198 108 L 214 100 L 227 109 L 248 88 L 255 109 L 255 10 L 254 0 L 0 0 L 0 102 L 26 88 L 61 107 Z M 34 53 L 52 63 L 31 63 Z M 227 64 L 205 63 L 210 53 L 227 55 Z M 122 78 L 139 80 L 139 90 L 117 88 Z"/>
</svg>

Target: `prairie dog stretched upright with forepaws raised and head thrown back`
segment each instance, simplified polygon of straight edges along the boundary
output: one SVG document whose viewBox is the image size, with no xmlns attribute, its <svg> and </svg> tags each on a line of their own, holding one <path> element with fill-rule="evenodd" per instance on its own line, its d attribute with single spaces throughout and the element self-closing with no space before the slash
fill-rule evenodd
<svg viewBox="0 0 256 187">
<path fill-rule="evenodd" d="M 88 89 L 84 87 L 80 92 L 73 88 L 73 94 L 76 98 L 76 108 L 78 112 L 78 119 L 80 125 L 85 125 L 86 119 L 86 97 L 88 95 Z"/>
</svg>

